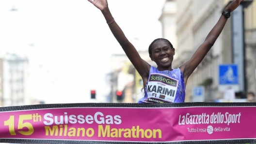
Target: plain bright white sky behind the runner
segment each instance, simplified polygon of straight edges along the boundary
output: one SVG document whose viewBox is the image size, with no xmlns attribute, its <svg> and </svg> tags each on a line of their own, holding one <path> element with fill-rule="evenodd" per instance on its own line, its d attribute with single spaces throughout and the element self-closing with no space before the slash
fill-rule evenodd
<svg viewBox="0 0 256 144">
<path fill-rule="evenodd" d="M 162 37 L 165 0 L 108 0 L 137 50 Z M 109 93 L 113 54 L 124 54 L 101 12 L 87 0 L 0 0 L 0 55 L 29 59 L 29 95 L 46 103 L 90 102 Z"/>
</svg>

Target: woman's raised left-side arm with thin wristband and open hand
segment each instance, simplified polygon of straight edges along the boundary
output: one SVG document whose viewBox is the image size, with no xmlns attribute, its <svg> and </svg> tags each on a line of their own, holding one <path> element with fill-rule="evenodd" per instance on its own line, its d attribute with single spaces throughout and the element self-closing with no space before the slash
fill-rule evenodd
<svg viewBox="0 0 256 144">
<path fill-rule="evenodd" d="M 107 0 L 88 0 L 93 3 L 104 15 L 107 24 L 109 25 L 112 34 L 114 35 L 117 42 L 122 46 L 123 50 L 125 51 L 127 57 L 135 67 L 135 69 L 141 74 L 144 75 L 148 73 L 150 70 L 150 65 L 144 61 L 135 47 L 128 41 L 127 37 L 125 36 L 124 32 L 120 27 L 117 25 L 116 21 L 114 20 L 109 7 Z"/>
</svg>

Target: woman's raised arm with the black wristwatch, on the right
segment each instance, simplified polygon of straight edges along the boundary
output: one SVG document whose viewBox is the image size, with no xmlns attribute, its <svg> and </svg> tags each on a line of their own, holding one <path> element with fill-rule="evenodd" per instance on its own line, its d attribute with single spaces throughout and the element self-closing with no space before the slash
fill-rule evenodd
<svg viewBox="0 0 256 144">
<path fill-rule="evenodd" d="M 233 0 L 225 9 L 225 12 L 233 12 L 239 5 L 240 2 L 243 0 Z M 180 66 L 181 71 L 184 74 L 184 80 L 185 82 L 189 78 L 189 76 L 192 74 L 192 72 L 195 70 L 195 68 L 201 63 L 203 58 L 205 58 L 206 54 L 210 50 L 210 48 L 213 46 L 219 35 L 221 34 L 226 21 L 227 17 L 225 17 L 223 14 L 221 15 L 220 19 L 216 23 L 216 25 L 211 29 L 211 31 L 208 33 L 204 43 L 202 43 L 195 53 L 193 54 L 192 58 Z"/>
</svg>

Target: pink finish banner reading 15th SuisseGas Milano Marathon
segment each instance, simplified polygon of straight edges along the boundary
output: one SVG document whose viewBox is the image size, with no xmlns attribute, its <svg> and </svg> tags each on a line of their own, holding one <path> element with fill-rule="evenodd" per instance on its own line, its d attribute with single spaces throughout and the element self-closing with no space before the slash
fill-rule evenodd
<svg viewBox="0 0 256 144">
<path fill-rule="evenodd" d="M 0 143 L 254 142 L 256 103 L 71 103 L 0 108 Z"/>
</svg>

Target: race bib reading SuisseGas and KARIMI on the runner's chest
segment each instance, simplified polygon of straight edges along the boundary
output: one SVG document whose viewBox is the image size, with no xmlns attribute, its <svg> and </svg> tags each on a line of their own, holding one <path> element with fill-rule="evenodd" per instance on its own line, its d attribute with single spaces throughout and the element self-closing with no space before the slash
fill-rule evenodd
<svg viewBox="0 0 256 144">
<path fill-rule="evenodd" d="M 151 73 L 146 87 L 148 98 L 145 102 L 174 102 L 177 86 L 178 80 L 163 74 Z"/>
</svg>

